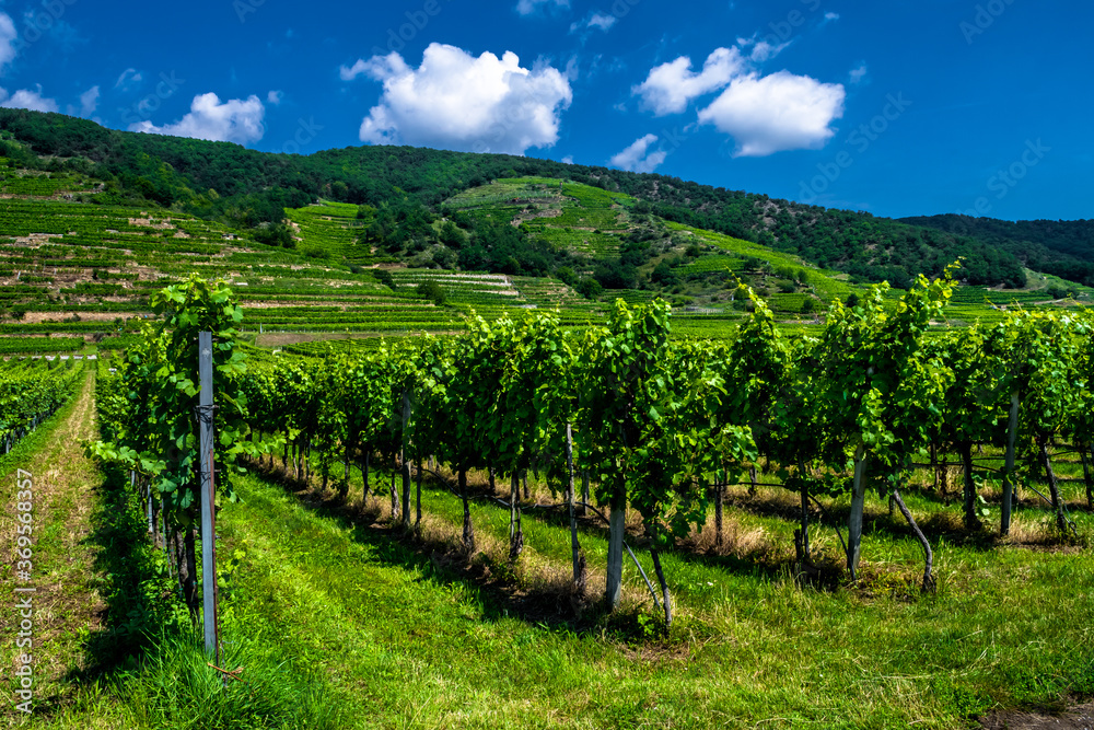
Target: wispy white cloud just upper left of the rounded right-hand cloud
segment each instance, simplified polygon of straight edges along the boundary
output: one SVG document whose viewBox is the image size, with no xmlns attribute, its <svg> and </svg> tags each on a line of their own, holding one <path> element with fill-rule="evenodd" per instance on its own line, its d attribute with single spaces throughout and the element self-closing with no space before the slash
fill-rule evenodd
<svg viewBox="0 0 1094 730">
<path fill-rule="evenodd" d="M 744 69 L 744 59 L 737 48 L 718 48 L 702 65 L 702 71 L 691 71 L 691 59 L 680 56 L 650 70 L 650 76 L 631 93 L 642 97 L 642 104 L 655 116 L 679 114 L 688 103 L 712 91 L 722 89 Z"/>
</svg>

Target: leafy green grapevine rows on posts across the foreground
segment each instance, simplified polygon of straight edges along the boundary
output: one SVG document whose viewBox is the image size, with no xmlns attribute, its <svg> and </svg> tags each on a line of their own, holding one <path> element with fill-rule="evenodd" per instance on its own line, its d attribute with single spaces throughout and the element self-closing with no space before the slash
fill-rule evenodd
<svg viewBox="0 0 1094 730">
<path fill-rule="evenodd" d="M 986 529 L 978 503 L 985 486 L 1001 487 L 998 529 L 1005 534 L 1015 486 L 1040 474 L 1058 528 L 1073 529 L 1052 468 L 1064 451 L 1080 454 L 1094 501 L 1094 317 L 1017 309 L 987 327 L 933 326 L 955 288 L 951 270 L 935 280 L 920 277 L 894 308 L 883 298 L 885 285 L 874 287 L 854 306 L 835 302 L 817 337 L 784 336 L 745 290 L 752 314 L 728 345 L 670 344 L 667 304 L 617 301 L 606 326 L 581 333 L 565 331 L 557 313 L 529 312 L 492 324 L 473 318 L 457 337 L 316 359 L 248 356 L 235 341 L 242 310 L 226 287 L 194 278 L 154 299 L 165 315 L 162 328 L 147 328 L 117 372 L 101 379 L 107 440 L 95 450 L 133 472 L 150 521 L 164 520 L 185 568 L 198 483 L 193 335 L 211 329 L 218 488 L 226 497 L 234 497 L 231 472 L 246 463 L 243 456 L 270 465 L 280 459 L 342 494 L 354 467 L 368 489 L 370 461 L 382 459 L 401 474 L 391 490 L 393 520 L 414 530 L 422 513 L 422 465 L 435 459 L 455 475 L 462 541 L 474 551 L 467 473 L 489 468 L 491 482 L 496 474 L 510 478 L 515 560 L 523 547 L 519 475 L 535 471 L 569 506 L 579 581 L 584 558 L 574 512 L 585 498 L 574 484 L 584 480 L 607 508 L 607 602 L 619 600 L 625 513 L 637 510 L 671 623 L 659 552 L 706 524 L 711 502 L 720 542 L 726 485 L 766 460 L 800 496 L 802 566 L 811 565 L 811 502 L 849 493 L 846 557 L 853 580 L 863 506 L 876 491 L 900 508 L 921 542 L 923 589 L 932 590 L 931 546 L 901 498 L 917 459 L 958 456 L 969 531 Z M 975 465 L 982 460 L 974 451 L 991 447 L 1005 453 L 1002 470 Z M 193 584 L 188 590 L 196 599 Z"/>
</svg>

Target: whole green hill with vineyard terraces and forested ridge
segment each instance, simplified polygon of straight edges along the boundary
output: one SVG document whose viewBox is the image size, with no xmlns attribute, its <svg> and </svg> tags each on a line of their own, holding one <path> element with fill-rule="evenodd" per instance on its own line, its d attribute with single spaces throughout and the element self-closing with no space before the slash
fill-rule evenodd
<svg viewBox="0 0 1094 730">
<path fill-rule="evenodd" d="M 1010 244 L 662 175 L 415 148 L 268 154 L 21 109 L 0 109 L 0 153 L 10 336 L 131 331 L 191 273 L 232 281 L 245 326 L 271 344 L 451 332 L 528 308 L 581 326 L 616 298 L 656 296 L 678 334 L 724 337 L 738 281 L 804 326 L 865 283 L 904 287 L 958 257 L 962 321 L 1089 301 Z"/>
</svg>

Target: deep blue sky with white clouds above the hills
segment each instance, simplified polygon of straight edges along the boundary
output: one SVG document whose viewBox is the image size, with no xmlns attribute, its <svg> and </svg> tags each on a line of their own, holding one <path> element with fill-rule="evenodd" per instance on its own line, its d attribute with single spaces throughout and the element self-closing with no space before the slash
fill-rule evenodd
<svg viewBox="0 0 1094 730">
<path fill-rule="evenodd" d="M 0 102 L 310 153 L 612 165 L 880 216 L 1094 218 L 1090 3 L 0 2 Z"/>
</svg>

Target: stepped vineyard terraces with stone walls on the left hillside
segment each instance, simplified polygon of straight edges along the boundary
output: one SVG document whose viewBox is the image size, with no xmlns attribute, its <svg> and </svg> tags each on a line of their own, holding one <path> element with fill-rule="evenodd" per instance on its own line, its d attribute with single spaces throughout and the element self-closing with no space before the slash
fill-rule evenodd
<svg viewBox="0 0 1094 730">
<path fill-rule="evenodd" d="M 19 189 L 51 197 L 0 201 L 0 306 L 12 313 L 0 323 L 7 334 L 91 337 L 131 329 L 151 316 L 154 291 L 195 271 L 226 278 L 247 308 L 248 329 L 261 334 L 449 332 L 472 311 L 493 318 L 540 306 L 568 310 L 574 323 L 602 314 L 565 285 L 529 277 L 395 268 L 392 289 L 377 280 L 377 269 L 362 268 L 384 257 L 357 243 L 366 222 L 357 206 L 323 201 L 287 210 L 299 241 L 284 250 L 175 212 L 54 199 L 86 194 L 94 200 L 97 186 L 77 176 L 9 177 L 44 177 L 48 187 Z M 438 281 L 449 303 L 418 297 L 423 281 Z M 10 348 L 28 346 L 19 343 Z"/>
</svg>

